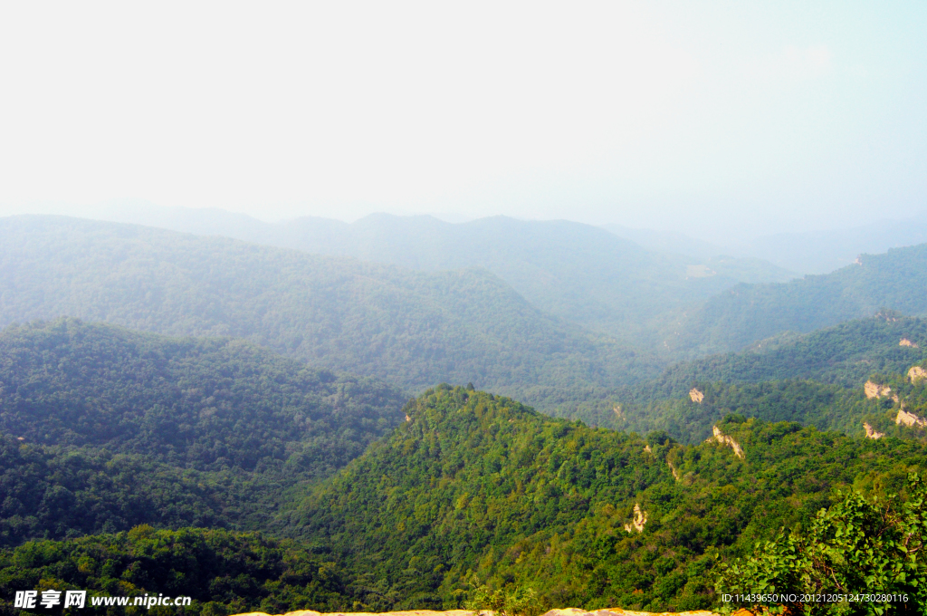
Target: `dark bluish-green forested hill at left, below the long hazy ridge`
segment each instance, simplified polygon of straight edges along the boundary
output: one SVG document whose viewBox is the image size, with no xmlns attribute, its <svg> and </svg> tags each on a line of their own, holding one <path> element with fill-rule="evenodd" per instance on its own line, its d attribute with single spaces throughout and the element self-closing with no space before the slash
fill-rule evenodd
<svg viewBox="0 0 927 616">
<path fill-rule="evenodd" d="M 0 334 L 0 542 L 266 528 L 402 419 L 395 388 L 241 340 L 60 319 Z"/>
</svg>

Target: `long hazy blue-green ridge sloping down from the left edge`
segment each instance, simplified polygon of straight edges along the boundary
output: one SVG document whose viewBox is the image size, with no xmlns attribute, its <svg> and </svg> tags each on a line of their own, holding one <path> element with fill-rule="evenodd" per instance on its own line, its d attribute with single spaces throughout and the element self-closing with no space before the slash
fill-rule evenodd
<svg viewBox="0 0 927 616">
<path fill-rule="evenodd" d="M 545 409 L 657 366 L 485 270 L 426 273 L 134 225 L 0 219 L 0 289 L 0 325 L 71 315 L 246 338 L 409 390 L 472 381 Z"/>
</svg>

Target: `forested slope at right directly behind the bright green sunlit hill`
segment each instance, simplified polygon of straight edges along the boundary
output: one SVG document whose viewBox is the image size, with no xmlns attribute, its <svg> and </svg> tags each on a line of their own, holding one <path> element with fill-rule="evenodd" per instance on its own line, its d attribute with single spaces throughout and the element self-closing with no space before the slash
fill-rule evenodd
<svg viewBox="0 0 927 616">
<path fill-rule="evenodd" d="M 887 312 L 670 366 L 658 379 L 616 392 L 616 412 L 600 409 L 596 422 L 667 430 L 685 443 L 711 436 L 712 425 L 731 413 L 860 435 L 881 408 L 863 384 L 873 374 L 906 373 L 925 349 L 927 321 Z"/>
</svg>

